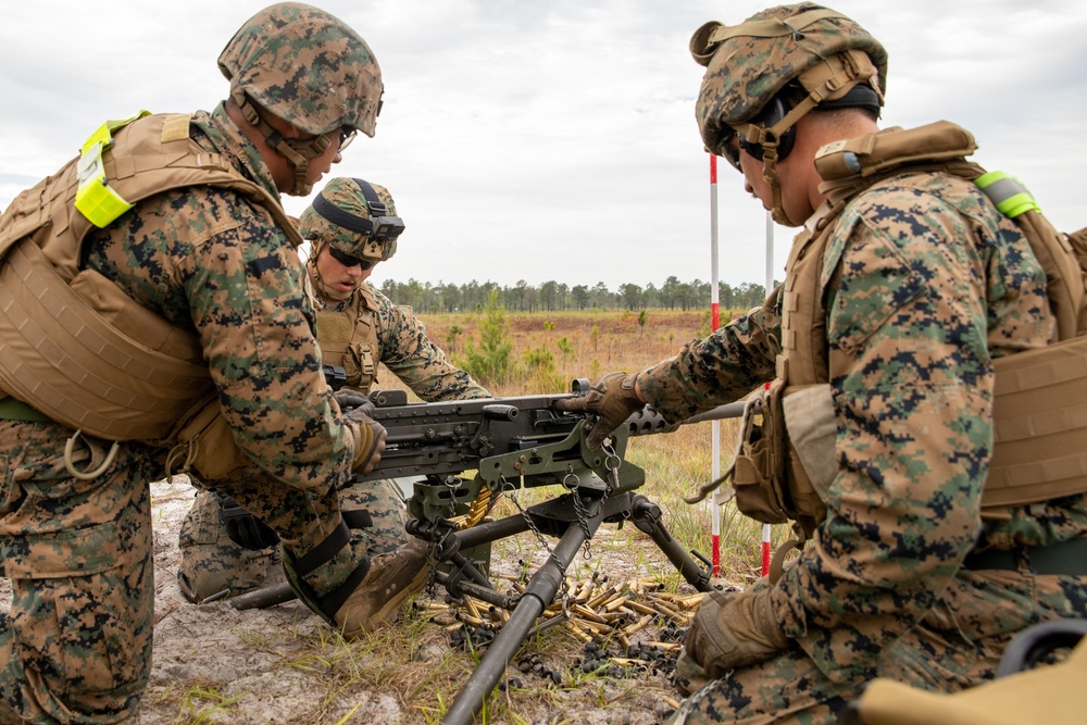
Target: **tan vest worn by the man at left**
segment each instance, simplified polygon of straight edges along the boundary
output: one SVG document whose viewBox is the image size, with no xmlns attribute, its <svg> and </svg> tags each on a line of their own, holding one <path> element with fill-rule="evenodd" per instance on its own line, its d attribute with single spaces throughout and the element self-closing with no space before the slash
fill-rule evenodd
<svg viewBox="0 0 1087 725">
<path fill-rule="evenodd" d="M 133 204 L 189 186 L 229 189 L 301 238 L 274 198 L 188 135 L 186 115 L 117 128 L 109 183 Z M 110 440 L 158 440 L 211 388 L 191 330 L 79 271 L 95 227 L 75 209 L 75 162 L 21 193 L 0 216 L 0 387 L 49 417 Z M 71 285 L 71 286 L 70 286 Z"/>
</svg>

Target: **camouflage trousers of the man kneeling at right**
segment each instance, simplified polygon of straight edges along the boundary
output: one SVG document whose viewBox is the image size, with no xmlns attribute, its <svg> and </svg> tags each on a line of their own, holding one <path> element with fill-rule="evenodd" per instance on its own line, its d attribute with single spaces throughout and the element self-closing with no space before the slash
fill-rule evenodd
<svg viewBox="0 0 1087 725">
<path fill-rule="evenodd" d="M 992 678 L 1016 634 L 1062 617 L 1087 617 L 1087 577 L 963 570 L 941 602 L 876 658 L 865 679 L 834 683 L 794 646 L 767 662 L 704 684 L 683 701 L 670 723 L 830 725 L 872 677 L 937 692 L 962 690 Z M 698 687 L 704 683 L 700 672 L 680 657 L 677 677 Z"/>
</svg>

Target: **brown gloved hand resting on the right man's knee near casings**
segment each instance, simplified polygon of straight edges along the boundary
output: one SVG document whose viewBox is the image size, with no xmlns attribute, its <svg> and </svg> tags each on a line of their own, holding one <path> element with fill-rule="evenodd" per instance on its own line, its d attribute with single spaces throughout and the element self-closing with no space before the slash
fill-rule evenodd
<svg viewBox="0 0 1087 725">
<path fill-rule="evenodd" d="M 687 630 L 683 657 L 710 679 L 736 667 L 765 662 L 788 647 L 774 616 L 771 587 L 746 591 L 713 591 L 702 600 Z"/>
</svg>

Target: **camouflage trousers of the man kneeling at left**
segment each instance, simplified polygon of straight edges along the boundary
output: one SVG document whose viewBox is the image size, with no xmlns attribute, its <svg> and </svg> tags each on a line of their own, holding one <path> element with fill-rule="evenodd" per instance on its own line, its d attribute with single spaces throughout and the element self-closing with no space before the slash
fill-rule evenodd
<svg viewBox="0 0 1087 725">
<path fill-rule="evenodd" d="M 0 612 L 0 725 L 117 723 L 132 716 L 151 667 L 154 583 L 148 482 L 163 477 L 162 451 L 117 446 L 93 478 L 64 463 L 74 430 L 0 420 L 0 562 L 12 602 Z M 80 437 L 76 471 L 96 471 L 108 441 Z M 292 489 L 255 467 L 230 490 L 304 554 L 341 523 L 332 486 Z M 324 596 L 365 562 L 353 536 L 305 579 Z"/>
</svg>

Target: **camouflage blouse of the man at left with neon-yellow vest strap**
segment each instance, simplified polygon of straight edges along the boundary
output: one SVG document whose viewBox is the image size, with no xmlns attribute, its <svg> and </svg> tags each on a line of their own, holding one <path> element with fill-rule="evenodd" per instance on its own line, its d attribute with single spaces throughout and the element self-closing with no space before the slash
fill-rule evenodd
<svg viewBox="0 0 1087 725">
<path fill-rule="evenodd" d="M 196 113 L 190 135 L 278 196 L 223 104 Z M 353 439 L 329 407 L 298 254 L 268 212 L 221 188 L 164 192 L 91 235 L 84 264 L 196 332 L 235 440 L 262 468 L 299 488 L 346 480 Z"/>
</svg>

